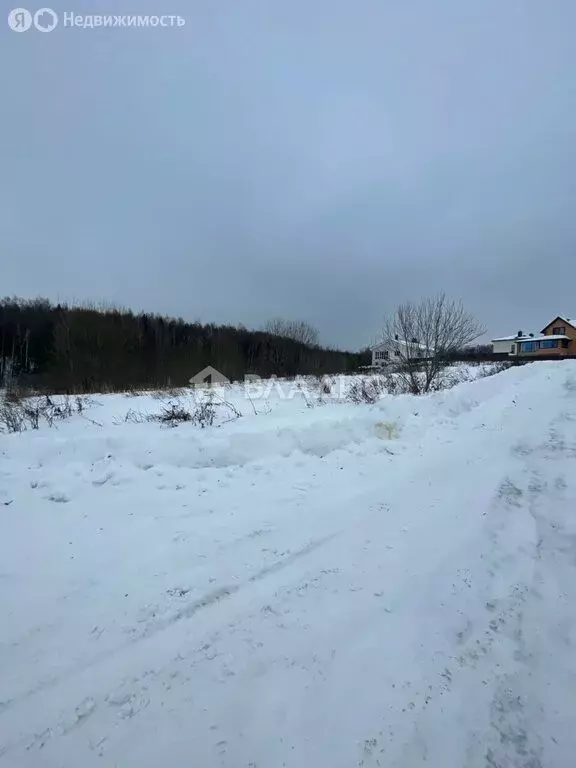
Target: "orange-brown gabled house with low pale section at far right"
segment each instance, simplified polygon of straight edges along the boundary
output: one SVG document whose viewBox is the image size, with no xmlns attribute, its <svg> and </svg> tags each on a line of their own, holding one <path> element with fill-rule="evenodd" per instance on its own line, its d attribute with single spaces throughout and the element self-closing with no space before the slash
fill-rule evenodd
<svg viewBox="0 0 576 768">
<path fill-rule="evenodd" d="M 576 355 L 576 326 L 570 322 L 570 318 L 558 316 L 538 335 L 525 335 L 518 331 L 516 336 L 492 339 L 492 351 L 507 354 L 509 357 Z"/>
</svg>

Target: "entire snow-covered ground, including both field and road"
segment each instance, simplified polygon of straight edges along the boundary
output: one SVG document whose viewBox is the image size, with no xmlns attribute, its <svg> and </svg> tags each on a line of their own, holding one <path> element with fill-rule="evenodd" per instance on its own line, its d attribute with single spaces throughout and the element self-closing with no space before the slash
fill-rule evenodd
<svg viewBox="0 0 576 768">
<path fill-rule="evenodd" d="M 576 364 L 227 397 L 0 435 L 2 768 L 573 768 Z"/>
</svg>

